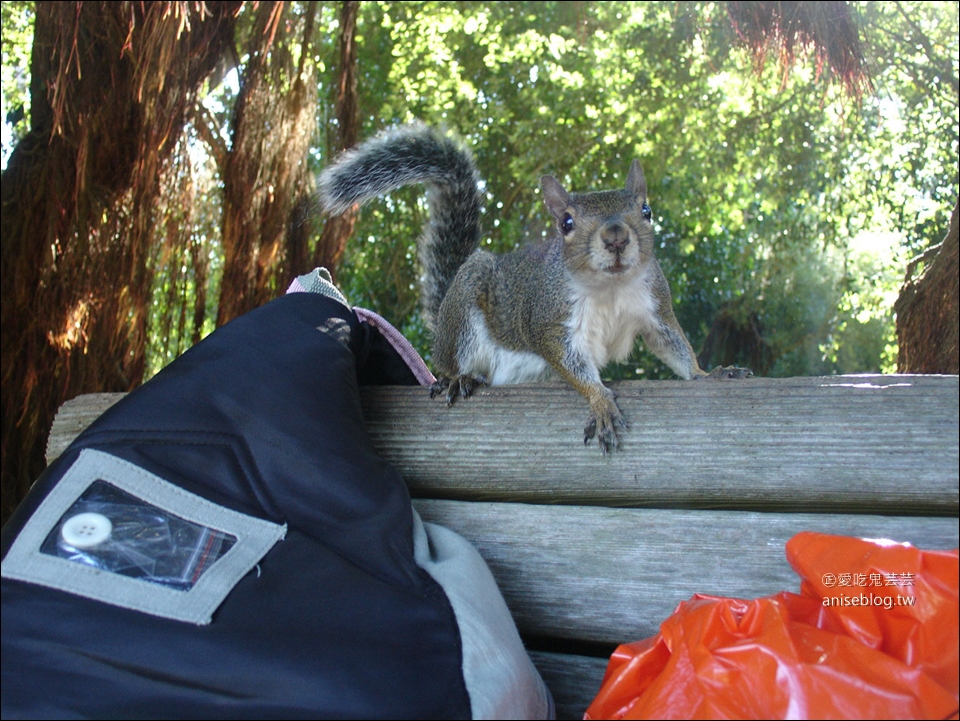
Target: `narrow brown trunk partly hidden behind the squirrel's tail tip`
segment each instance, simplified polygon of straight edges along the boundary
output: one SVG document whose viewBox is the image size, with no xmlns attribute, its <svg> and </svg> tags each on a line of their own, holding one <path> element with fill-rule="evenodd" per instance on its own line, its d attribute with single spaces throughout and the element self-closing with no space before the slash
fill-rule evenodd
<svg viewBox="0 0 960 721">
<path fill-rule="evenodd" d="M 357 12 L 359 2 L 342 3 L 340 12 L 340 39 L 337 43 L 340 72 L 336 86 L 337 151 L 352 148 L 360 139 L 360 102 L 357 93 Z M 333 155 L 333 153 L 331 153 Z M 336 279 L 337 266 L 343 258 L 347 240 L 353 234 L 356 213 L 328 217 L 317 242 L 315 265 L 323 266 Z"/>
</svg>

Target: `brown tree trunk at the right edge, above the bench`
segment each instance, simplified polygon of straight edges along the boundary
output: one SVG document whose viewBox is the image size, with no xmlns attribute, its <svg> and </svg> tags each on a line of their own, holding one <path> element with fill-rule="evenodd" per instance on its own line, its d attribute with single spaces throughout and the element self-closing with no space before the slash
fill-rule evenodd
<svg viewBox="0 0 960 721">
<path fill-rule="evenodd" d="M 950 229 L 923 274 L 913 273 L 921 256 L 907 268 L 906 279 L 894 310 L 897 313 L 899 373 L 960 373 L 958 350 L 958 219 L 960 205 L 954 206 Z"/>
</svg>

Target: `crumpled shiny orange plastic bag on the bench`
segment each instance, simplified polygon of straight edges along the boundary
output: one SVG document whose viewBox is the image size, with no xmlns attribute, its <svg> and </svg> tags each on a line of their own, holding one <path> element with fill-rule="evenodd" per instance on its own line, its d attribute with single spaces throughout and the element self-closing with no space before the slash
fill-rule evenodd
<svg viewBox="0 0 960 721">
<path fill-rule="evenodd" d="M 786 553 L 799 594 L 682 602 L 584 718 L 958 718 L 958 551 L 803 532 Z"/>
</svg>

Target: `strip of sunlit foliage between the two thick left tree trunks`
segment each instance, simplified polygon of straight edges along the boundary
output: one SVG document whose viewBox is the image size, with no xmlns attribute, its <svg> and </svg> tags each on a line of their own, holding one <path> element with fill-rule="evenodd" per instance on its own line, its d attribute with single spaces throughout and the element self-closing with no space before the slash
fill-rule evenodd
<svg viewBox="0 0 960 721">
<path fill-rule="evenodd" d="M 269 7 L 264 6 L 267 10 Z M 308 52 L 302 57 L 303 27 L 311 10 L 318 29 L 311 36 Z M 291 3 L 280 23 L 288 32 L 278 33 L 266 56 L 265 65 L 280 94 L 289 97 L 300 64 L 329 65 L 335 40 L 335 8 Z M 153 297 L 149 315 L 147 377 L 213 331 L 224 274 L 222 208 L 224 203 L 223 165 L 233 147 L 236 129 L 234 110 L 251 54 L 263 41 L 266 15 L 245 5 L 234 36 L 238 63 L 221 68 L 208 80 L 191 121 L 184 129 L 178 152 L 166 168 L 163 196 L 158 208 L 158 237 L 162 242 L 150 259 Z M 321 86 L 322 93 L 322 86 Z M 256 129 L 255 129 L 256 130 Z M 313 144 L 322 148 L 315 129 Z M 263 147 L 261 145 L 261 150 Z M 321 152 L 308 160 L 321 167 Z M 234 169 L 236 166 L 234 165 Z M 273 277 L 282 293 L 290 279 Z"/>
</svg>

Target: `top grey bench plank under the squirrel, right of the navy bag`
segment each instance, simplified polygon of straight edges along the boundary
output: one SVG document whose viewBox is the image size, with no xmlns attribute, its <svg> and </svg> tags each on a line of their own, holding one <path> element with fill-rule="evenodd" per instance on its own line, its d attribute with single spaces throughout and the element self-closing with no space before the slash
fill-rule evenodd
<svg viewBox="0 0 960 721">
<path fill-rule="evenodd" d="M 603 457 L 563 384 L 445 408 L 361 391 L 378 450 L 425 497 L 611 506 L 957 515 L 956 376 L 613 385 L 630 428 Z"/>
</svg>

